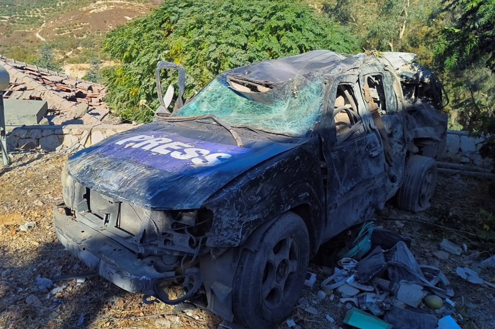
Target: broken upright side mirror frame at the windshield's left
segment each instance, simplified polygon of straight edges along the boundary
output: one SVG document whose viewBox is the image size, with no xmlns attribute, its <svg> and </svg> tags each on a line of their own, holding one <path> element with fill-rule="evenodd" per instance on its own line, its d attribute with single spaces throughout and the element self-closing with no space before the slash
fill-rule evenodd
<svg viewBox="0 0 495 329">
<path fill-rule="evenodd" d="M 167 62 L 167 61 L 160 61 L 156 65 L 156 92 L 158 94 L 158 100 L 160 102 L 160 106 L 156 110 L 156 113 L 172 114 L 168 110 L 168 107 L 172 103 L 175 89 L 172 85 L 168 86 L 168 89 L 165 93 L 165 96 L 163 96 L 163 92 L 161 89 L 161 76 L 160 76 L 160 74 L 161 74 L 161 71 L 164 69 L 177 70 L 179 73 L 179 81 L 178 81 L 179 92 L 177 95 L 177 99 L 175 101 L 174 111 L 179 110 L 184 105 L 184 101 L 183 101 L 182 97 L 184 96 L 184 90 L 186 88 L 186 69 L 182 65 Z"/>
</svg>

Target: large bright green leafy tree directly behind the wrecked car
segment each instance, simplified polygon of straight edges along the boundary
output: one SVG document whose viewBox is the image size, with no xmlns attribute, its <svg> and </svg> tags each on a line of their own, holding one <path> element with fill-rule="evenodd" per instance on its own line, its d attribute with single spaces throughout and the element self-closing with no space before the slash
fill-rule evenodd
<svg viewBox="0 0 495 329">
<path fill-rule="evenodd" d="M 157 106 L 154 68 L 182 64 L 186 97 L 221 71 L 314 49 L 358 51 L 346 30 L 302 0 L 169 0 L 109 32 L 104 50 L 120 65 L 102 69 L 107 104 L 121 116 L 147 120 Z"/>
</svg>

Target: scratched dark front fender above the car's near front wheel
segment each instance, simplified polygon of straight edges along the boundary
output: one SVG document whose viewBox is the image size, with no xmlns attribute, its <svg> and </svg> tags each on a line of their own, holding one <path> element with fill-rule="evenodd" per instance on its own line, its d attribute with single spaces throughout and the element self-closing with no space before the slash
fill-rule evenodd
<svg viewBox="0 0 495 329">
<path fill-rule="evenodd" d="M 316 144 L 316 143 L 315 143 Z M 203 206 L 215 214 L 206 244 L 242 245 L 263 222 L 301 205 L 300 214 L 317 248 L 324 220 L 324 189 L 316 145 L 302 145 L 251 169 L 215 194 Z"/>
</svg>

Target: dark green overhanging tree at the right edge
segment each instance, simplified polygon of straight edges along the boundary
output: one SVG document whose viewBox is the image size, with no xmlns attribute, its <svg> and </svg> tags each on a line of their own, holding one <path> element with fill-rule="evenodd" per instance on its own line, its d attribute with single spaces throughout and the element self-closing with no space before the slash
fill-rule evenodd
<svg viewBox="0 0 495 329">
<path fill-rule="evenodd" d="M 489 135 L 482 153 L 495 158 L 495 0 L 444 1 L 454 14 L 440 33 L 436 60 L 453 77 L 447 92 L 462 128 Z"/>
</svg>

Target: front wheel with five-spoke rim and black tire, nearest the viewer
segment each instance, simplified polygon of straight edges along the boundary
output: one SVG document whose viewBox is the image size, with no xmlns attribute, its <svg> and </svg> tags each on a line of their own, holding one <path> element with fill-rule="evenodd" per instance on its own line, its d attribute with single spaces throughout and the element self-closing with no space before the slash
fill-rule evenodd
<svg viewBox="0 0 495 329">
<path fill-rule="evenodd" d="M 304 221 L 287 212 L 257 243 L 255 252 L 242 250 L 234 278 L 233 312 L 237 322 L 248 328 L 272 328 L 287 319 L 301 293 L 309 263 L 309 234 Z"/>
</svg>

